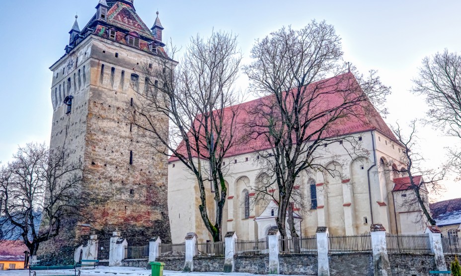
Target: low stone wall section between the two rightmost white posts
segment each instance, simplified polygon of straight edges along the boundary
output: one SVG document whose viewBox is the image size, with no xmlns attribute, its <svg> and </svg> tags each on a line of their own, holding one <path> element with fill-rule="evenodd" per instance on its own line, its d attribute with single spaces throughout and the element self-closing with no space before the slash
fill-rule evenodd
<svg viewBox="0 0 461 276">
<path fill-rule="evenodd" d="M 429 271 L 437 270 L 433 254 L 389 254 L 392 275 L 429 276 Z"/>
</svg>

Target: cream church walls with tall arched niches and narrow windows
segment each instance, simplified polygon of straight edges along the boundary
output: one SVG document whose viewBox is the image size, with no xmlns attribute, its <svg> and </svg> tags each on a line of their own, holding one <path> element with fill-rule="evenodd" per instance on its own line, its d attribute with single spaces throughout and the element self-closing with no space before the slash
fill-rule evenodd
<svg viewBox="0 0 461 276">
<path fill-rule="evenodd" d="M 250 105 L 262 100 L 243 103 L 241 110 L 251 109 Z M 236 119 L 239 120 L 243 119 Z M 399 198 L 411 196 L 412 192 L 394 183 L 407 179 L 403 146 L 379 113 L 373 108 L 365 113 L 363 121 L 352 124 L 345 120 L 340 128 L 346 130 L 344 136 L 355 137 L 366 154 L 351 156 L 353 149 L 346 150 L 346 143 L 330 143 L 317 152 L 321 156 L 317 162 L 337 173 L 306 170 L 298 178 L 295 189 L 303 199 L 302 207 L 296 203 L 293 206 L 298 234 L 314 235 L 317 226 L 327 226 L 332 235 L 356 235 L 370 231 L 373 223 L 382 223 L 389 233 L 422 233 L 426 221 L 420 208 L 403 206 Z M 245 240 L 263 238 L 270 227 L 276 226 L 277 203 L 261 204 L 255 200 L 255 187 L 265 170 L 259 161 L 261 153 L 245 146 L 231 152 L 223 162 L 228 192 L 222 233 L 235 231 L 238 238 Z M 200 194 L 194 176 L 174 158 L 168 166 L 173 242 L 181 242 L 187 232 L 197 233 L 203 241 L 212 240 L 199 213 Z M 214 193 L 207 188 L 206 194 L 208 209 L 212 210 L 210 217 L 214 218 Z"/>
</svg>

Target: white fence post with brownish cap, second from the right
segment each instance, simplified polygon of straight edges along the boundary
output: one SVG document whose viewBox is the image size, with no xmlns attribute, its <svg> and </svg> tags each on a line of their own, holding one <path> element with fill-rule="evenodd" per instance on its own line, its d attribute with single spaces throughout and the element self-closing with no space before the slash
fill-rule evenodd
<svg viewBox="0 0 461 276">
<path fill-rule="evenodd" d="M 375 276 L 391 276 L 389 257 L 387 256 L 386 229 L 383 224 L 370 226 L 373 248 L 373 267 Z"/>
</svg>

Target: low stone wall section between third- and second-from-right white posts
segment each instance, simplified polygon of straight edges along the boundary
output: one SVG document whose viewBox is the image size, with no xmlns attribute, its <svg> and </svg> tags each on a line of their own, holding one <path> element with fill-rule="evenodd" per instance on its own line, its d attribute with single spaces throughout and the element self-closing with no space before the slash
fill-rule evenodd
<svg viewBox="0 0 461 276">
<path fill-rule="evenodd" d="M 373 254 L 348 253 L 331 254 L 328 256 L 330 275 L 360 275 L 373 276 Z"/>
</svg>

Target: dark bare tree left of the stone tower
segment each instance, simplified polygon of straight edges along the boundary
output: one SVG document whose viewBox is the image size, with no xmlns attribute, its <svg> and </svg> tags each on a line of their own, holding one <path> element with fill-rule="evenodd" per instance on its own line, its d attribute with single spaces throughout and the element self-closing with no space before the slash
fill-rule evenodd
<svg viewBox="0 0 461 276">
<path fill-rule="evenodd" d="M 62 148 L 45 144 L 19 147 L 13 161 L 0 169 L 0 239 L 22 239 L 35 260 L 40 243 L 59 235 L 80 185 L 80 164 Z"/>
</svg>

